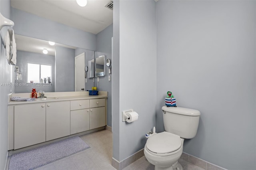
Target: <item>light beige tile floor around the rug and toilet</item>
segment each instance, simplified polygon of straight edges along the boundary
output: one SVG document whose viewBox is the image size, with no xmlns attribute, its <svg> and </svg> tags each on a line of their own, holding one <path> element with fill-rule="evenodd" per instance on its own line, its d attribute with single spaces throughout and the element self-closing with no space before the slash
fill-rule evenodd
<svg viewBox="0 0 256 170">
<path fill-rule="evenodd" d="M 36 170 L 116 170 L 112 165 L 112 132 L 101 130 L 80 136 L 91 148 L 57 160 Z M 204 170 L 180 159 L 183 170 Z M 124 170 L 154 170 L 145 156 L 126 166 Z"/>
</svg>

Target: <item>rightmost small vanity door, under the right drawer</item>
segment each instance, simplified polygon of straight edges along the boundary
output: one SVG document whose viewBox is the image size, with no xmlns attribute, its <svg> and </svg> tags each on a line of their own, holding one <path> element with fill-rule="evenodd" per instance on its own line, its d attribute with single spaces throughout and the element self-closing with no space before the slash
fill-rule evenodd
<svg viewBox="0 0 256 170">
<path fill-rule="evenodd" d="M 104 127 L 105 125 L 105 107 L 90 109 L 90 129 Z"/>
</svg>

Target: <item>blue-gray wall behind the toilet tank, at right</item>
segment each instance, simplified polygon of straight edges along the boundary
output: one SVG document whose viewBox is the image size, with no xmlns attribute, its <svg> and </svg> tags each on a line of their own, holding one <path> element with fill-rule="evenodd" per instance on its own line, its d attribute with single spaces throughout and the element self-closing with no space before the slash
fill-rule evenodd
<svg viewBox="0 0 256 170">
<path fill-rule="evenodd" d="M 157 131 L 172 91 L 201 112 L 184 152 L 230 170 L 256 169 L 255 2 L 157 2 Z"/>
</svg>

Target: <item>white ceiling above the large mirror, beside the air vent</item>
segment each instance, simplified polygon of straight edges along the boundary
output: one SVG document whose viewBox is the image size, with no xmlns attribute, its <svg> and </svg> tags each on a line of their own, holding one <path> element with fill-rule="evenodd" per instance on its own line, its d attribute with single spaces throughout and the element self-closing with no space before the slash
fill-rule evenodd
<svg viewBox="0 0 256 170">
<path fill-rule="evenodd" d="M 67 26 L 98 34 L 113 23 L 110 0 L 88 0 L 84 7 L 76 0 L 11 0 L 11 6 Z"/>
</svg>

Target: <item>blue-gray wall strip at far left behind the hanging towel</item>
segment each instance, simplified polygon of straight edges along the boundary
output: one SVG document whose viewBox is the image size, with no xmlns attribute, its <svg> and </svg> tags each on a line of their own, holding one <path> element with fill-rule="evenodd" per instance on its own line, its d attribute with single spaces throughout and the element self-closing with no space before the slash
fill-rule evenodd
<svg viewBox="0 0 256 170">
<path fill-rule="evenodd" d="M 1 14 L 10 19 L 10 0 L 0 1 Z M 4 27 L 1 30 L 1 35 L 6 36 L 7 29 L 10 27 Z M 2 37 L 1 37 L 2 38 Z M 3 85 L 2 85 L 3 83 Z M 0 45 L 0 169 L 4 170 L 7 158 L 7 146 L 8 146 L 8 94 L 10 93 L 10 86 L 4 85 L 10 83 L 10 65 L 8 65 L 6 59 L 6 52 L 4 44 L 1 41 Z"/>
</svg>

